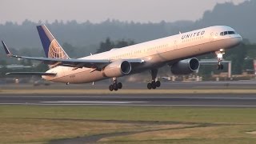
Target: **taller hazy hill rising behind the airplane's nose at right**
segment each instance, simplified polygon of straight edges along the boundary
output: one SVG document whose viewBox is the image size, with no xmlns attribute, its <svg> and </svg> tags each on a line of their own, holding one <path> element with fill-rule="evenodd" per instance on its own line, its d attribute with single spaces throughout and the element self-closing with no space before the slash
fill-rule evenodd
<svg viewBox="0 0 256 144">
<path fill-rule="evenodd" d="M 256 1 L 246 1 L 238 6 L 227 2 L 217 4 L 212 11 L 206 11 L 202 19 L 194 22 L 194 27 L 213 25 L 231 26 L 248 38 L 250 42 L 256 43 Z"/>
</svg>

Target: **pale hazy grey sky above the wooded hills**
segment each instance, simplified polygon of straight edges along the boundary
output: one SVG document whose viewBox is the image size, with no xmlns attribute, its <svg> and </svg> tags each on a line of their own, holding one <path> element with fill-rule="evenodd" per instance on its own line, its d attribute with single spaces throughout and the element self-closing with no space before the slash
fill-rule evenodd
<svg viewBox="0 0 256 144">
<path fill-rule="evenodd" d="M 176 22 L 202 18 L 206 10 L 213 10 L 217 3 L 246 0 L 1 0 L 0 23 L 33 22 L 98 23 L 106 19 L 134 22 Z"/>
</svg>

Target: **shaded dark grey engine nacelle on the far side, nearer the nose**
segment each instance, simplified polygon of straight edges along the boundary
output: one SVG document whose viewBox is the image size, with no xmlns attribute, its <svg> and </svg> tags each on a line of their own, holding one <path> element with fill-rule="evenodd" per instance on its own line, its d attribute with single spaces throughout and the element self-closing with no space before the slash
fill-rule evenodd
<svg viewBox="0 0 256 144">
<path fill-rule="evenodd" d="M 170 71 L 173 74 L 191 74 L 199 69 L 200 63 L 197 58 L 184 59 L 179 62 L 175 62 Z"/>
</svg>

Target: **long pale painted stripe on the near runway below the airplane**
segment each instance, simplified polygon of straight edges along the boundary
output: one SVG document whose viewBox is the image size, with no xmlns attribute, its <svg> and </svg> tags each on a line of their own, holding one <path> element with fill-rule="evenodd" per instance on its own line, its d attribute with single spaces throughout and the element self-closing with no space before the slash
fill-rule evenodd
<svg viewBox="0 0 256 144">
<path fill-rule="evenodd" d="M 126 103 L 144 103 L 144 102 L 125 102 L 125 101 L 55 101 L 55 102 L 41 102 L 41 103 L 92 103 L 92 104 L 126 104 Z"/>
</svg>

